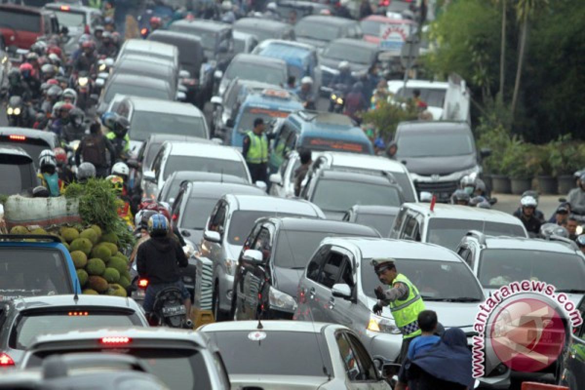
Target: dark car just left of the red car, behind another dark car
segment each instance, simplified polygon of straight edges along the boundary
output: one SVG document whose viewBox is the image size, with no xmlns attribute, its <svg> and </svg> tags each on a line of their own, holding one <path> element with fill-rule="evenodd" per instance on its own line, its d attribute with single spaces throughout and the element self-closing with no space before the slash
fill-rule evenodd
<svg viewBox="0 0 585 390">
<path fill-rule="evenodd" d="M 362 39 L 363 32 L 357 20 L 338 16 L 310 15 L 294 27 L 298 42 L 312 44 L 322 50 L 338 38 Z"/>
</svg>

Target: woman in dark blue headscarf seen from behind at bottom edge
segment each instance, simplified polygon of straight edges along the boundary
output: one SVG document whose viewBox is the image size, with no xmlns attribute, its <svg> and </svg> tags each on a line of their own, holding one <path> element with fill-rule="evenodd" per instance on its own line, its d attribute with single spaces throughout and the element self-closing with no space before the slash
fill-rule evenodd
<svg viewBox="0 0 585 390">
<path fill-rule="evenodd" d="M 417 390 L 473 389 L 472 353 L 463 330 L 452 327 L 441 341 L 414 356 L 407 367 L 408 378 L 418 382 Z"/>
</svg>

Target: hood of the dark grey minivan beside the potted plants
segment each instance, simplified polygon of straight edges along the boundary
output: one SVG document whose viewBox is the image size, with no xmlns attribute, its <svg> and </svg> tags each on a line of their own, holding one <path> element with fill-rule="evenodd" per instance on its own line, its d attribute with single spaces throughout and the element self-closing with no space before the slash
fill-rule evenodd
<svg viewBox="0 0 585 390">
<path fill-rule="evenodd" d="M 453 172 L 473 168 L 476 164 L 474 154 L 446 157 L 401 157 L 397 160 L 406 164 L 408 171 L 418 175 L 448 175 Z"/>
</svg>

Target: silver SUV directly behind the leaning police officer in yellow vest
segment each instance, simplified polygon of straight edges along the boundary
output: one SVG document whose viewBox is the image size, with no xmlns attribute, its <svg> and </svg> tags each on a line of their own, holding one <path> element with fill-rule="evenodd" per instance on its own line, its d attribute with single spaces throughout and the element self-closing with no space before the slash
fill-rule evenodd
<svg viewBox="0 0 585 390">
<path fill-rule="evenodd" d="M 372 313 L 374 289 L 380 285 L 373 258 L 396 259 L 398 272 L 419 289 L 425 306 L 435 310 L 445 328 L 460 327 L 469 346 L 477 305 L 484 294 L 477 278 L 453 251 L 434 244 L 389 239 L 329 237 L 321 241 L 299 282 L 297 320 L 339 323 L 350 327 L 373 356 L 394 361 L 402 343 L 389 308 Z M 483 386 L 508 388 L 510 370 L 486 356 Z"/>
</svg>

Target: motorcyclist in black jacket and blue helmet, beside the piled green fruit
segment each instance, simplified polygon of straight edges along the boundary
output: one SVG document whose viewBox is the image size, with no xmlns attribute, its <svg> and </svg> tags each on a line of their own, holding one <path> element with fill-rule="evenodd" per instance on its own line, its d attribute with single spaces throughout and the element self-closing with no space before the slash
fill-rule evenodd
<svg viewBox="0 0 585 390">
<path fill-rule="evenodd" d="M 187 313 L 191 312 L 191 296 L 181 281 L 179 267 L 187 267 L 188 260 L 181 245 L 168 237 L 168 221 L 161 214 L 150 217 L 150 238 L 140 244 L 136 253 L 136 269 L 140 278 L 149 281 L 144 296 L 144 311 L 152 313 L 154 298 L 167 287 L 176 287 L 183 293 Z"/>
</svg>

